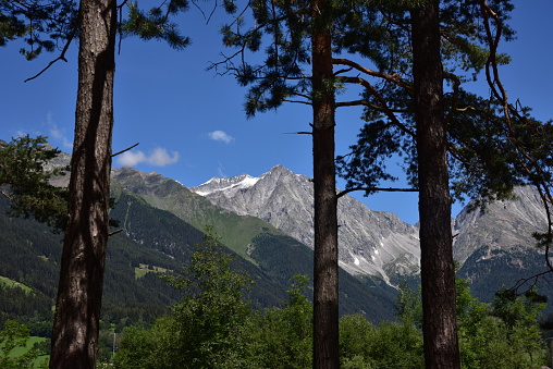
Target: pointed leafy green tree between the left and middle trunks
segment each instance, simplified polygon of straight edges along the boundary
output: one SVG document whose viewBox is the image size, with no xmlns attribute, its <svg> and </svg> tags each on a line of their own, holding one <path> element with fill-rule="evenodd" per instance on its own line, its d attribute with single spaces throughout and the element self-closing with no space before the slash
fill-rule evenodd
<svg viewBox="0 0 553 369">
<path fill-rule="evenodd" d="M 251 310 L 242 294 L 253 281 L 244 273 L 231 269 L 233 257 L 222 249 L 219 238 L 207 229 L 204 242 L 192 254 L 189 265 L 179 275 L 165 274 L 162 279 L 184 293 L 173 306 L 171 317 L 160 320 L 151 332 L 158 342 L 122 342 L 115 357 L 120 367 L 150 368 L 241 368 L 244 350 L 249 342 L 246 329 Z M 149 330 L 150 331 L 150 330 Z M 134 332 L 136 333 L 136 332 Z M 131 340 L 131 339 L 130 339 Z M 136 345 L 145 345 L 142 357 L 133 356 Z M 151 353 L 151 355 L 149 355 Z M 152 356 L 153 355 L 153 356 Z"/>
</svg>

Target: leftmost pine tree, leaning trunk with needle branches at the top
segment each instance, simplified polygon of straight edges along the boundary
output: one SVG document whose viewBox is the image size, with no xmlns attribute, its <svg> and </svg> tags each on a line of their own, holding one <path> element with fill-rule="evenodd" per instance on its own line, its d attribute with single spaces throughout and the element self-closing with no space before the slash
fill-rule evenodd
<svg viewBox="0 0 553 369">
<path fill-rule="evenodd" d="M 73 37 L 77 34 L 79 37 L 69 221 L 50 368 L 94 368 L 96 365 L 109 227 L 118 8 L 124 3 L 126 1 L 118 5 L 115 0 L 82 0 L 77 11 L 76 2 L 69 0 L 0 2 L 0 46 L 24 37 L 30 51 L 23 49 L 22 53 L 33 59 L 42 49 L 54 50 L 56 44 L 45 40 L 45 35 L 64 41 L 60 57 L 42 72 L 53 62 L 65 60 Z M 187 7 L 186 0 L 172 0 L 145 13 L 136 3 L 131 3 L 128 19 L 120 22 L 119 29 L 122 36 L 163 39 L 173 48 L 184 48 L 188 39 L 180 35 L 170 16 Z"/>
</svg>

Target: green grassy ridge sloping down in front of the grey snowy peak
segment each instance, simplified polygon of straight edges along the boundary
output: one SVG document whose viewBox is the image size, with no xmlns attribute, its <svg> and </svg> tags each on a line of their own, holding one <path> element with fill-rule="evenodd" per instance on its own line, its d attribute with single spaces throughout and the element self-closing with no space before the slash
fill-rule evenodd
<svg viewBox="0 0 553 369">
<path fill-rule="evenodd" d="M 266 278 L 273 279 L 286 290 L 296 273 L 312 278 L 312 250 L 260 219 L 221 209 L 177 182 L 157 173 L 125 168 L 114 170 L 113 180 L 113 183 L 118 183 L 114 188 L 119 188 L 115 192 L 122 194 L 119 196 L 143 199 L 195 226 L 213 225 L 231 249 L 259 267 Z M 120 197 L 119 202 L 123 205 L 128 200 Z M 123 225 L 127 224 L 123 218 L 120 221 Z M 130 233 L 133 236 L 133 232 Z M 163 247 L 163 251 L 169 253 L 167 246 Z M 172 256 L 177 257 L 174 254 Z M 396 291 L 379 283 L 378 278 L 373 280 L 376 282 L 368 286 L 347 273 L 341 273 L 341 313 L 365 311 L 372 321 L 394 319 Z"/>
</svg>

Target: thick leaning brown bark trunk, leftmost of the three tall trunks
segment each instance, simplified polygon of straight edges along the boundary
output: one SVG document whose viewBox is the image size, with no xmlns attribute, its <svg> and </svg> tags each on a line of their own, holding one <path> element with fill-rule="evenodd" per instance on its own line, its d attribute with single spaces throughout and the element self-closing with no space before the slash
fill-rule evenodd
<svg viewBox="0 0 553 369">
<path fill-rule="evenodd" d="M 95 368 L 108 244 L 116 2 L 82 0 L 70 220 L 50 368 Z"/>
</svg>

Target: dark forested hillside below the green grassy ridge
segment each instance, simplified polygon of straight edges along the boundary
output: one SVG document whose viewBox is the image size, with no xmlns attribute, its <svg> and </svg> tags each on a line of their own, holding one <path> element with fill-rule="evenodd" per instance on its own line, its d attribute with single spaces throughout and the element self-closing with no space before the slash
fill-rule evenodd
<svg viewBox="0 0 553 369">
<path fill-rule="evenodd" d="M 155 270 L 180 271 L 189 261 L 202 233 L 172 213 L 152 208 L 126 189 L 119 187 L 115 193 L 118 205 L 110 217 L 120 222 L 124 232 L 109 239 L 102 320 L 119 325 L 152 322 L 180 298 Z M 0 253 L 3 255 L 0 275 L 32 290 L 26 293 L 13 286 L 0 287 L 0 324 L 16 319 L 29 324 L 33 333 L 48 335 L 62 235 L 34 220 L 9 217 L 8 201 L 3 198 L 0 206 Z M 254 307 L 281 306 L 294 274 L 312 276 L 312 251 L 292 237 L 261 233 L 249 244 L 248 254 L 255 262 L 236 256 L 233 267 L 246 270 L 256 282 L 248 295 Z M 381 288 L 383 283 L 378 280 L 368 286 L 346 272 L 341 275 L 342 313 L 362 312 L 374 322 L 394 319 L 395 291 Z"/>
</svg>

